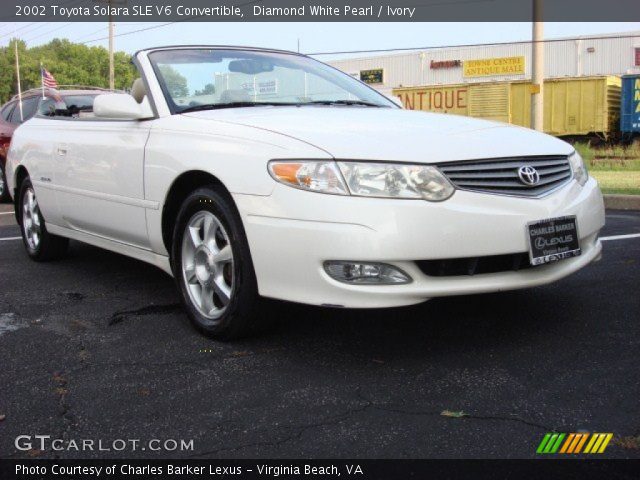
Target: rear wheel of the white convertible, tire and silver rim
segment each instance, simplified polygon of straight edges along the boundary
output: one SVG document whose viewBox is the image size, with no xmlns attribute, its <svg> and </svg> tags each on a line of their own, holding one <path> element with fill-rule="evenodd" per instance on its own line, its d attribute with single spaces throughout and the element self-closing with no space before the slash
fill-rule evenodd
<svg viewBox="0 0 640 480">
<path fill-rule="evenodd" d="M 26 178 L 20 185 L 18 203 L 18 221 L 22 232 L 22 241 L 27 254 L 37 262 L 45 262 L 63 257 L 67 253 L 69 240 L 52 235 L 40 212 L 38 200 L 31 180 Z"/>
</svg>

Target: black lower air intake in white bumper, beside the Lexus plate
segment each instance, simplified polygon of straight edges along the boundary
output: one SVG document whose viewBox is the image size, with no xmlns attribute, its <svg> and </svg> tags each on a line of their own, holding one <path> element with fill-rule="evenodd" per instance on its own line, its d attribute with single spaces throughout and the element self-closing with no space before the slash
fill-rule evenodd
<svg viewBox="0 0 640 480">
<path fill-rule="evenodd" d="M 489 255 L 485 257 L 418 260 L 418 268 L 430 277 L 459 277 L 524 270 L 531 267 L 528 253 Z"/>
</svg>

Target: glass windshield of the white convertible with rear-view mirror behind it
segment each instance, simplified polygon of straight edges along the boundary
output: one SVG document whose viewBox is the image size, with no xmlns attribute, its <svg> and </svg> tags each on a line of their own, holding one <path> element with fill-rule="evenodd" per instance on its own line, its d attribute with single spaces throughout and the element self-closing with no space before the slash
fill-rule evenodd
<svg viewBox="0 0 640 480">
<path fill-rule="evenodd" d="M 395 107 L 349 75 L 299 55 L 194 48 L 152 52 L 149 59 L 174 113 L 259 105 Z"/>
</svg>

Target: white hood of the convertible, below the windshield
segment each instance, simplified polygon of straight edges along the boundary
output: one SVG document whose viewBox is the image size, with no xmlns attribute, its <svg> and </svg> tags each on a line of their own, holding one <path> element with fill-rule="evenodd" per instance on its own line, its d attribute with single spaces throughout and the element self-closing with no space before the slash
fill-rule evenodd
<svg viewBox="0 0 640 480">
<path fill-rule="evenodd" d="M 351 160 L 434 163 L 573 151 L 566 142 L 521 127 L 395 108 L 251 107 L 186 115 L 286 135 Z"/>
</svg>

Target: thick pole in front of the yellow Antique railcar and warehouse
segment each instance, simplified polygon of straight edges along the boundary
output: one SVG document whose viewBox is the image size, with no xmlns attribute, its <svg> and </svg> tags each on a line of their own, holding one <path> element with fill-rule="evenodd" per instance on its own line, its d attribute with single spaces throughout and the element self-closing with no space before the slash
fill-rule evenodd
<svg viewBox="0 0 640 480">
<path fill-rule="evenodd" d="M 533 0 L 533 43 L 531 45 L 531 128 L 544 129 L 544 22 L 542 0 Z"/>
</svg>

